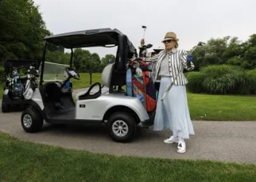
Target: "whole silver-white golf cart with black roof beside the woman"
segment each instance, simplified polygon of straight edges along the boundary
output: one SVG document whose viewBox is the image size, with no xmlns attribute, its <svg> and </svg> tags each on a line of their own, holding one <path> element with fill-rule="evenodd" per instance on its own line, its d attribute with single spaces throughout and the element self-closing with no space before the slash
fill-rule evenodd
<svg viewBox="0 0 256 182">
<path fill-rule="evenodd" d="M 64 82 L 56 79 L 56 74 L 48 71 L 52 67 L 47 68 L 50 63 L 45 63 L 46 47 L 50 44 L 71 49 L 69 67 L 62 66 L 60 70 L 60 74 L 64 70 L 68 74 Z M 102 84 L 96 82 L 91 85 L 87 92 L 76 96 L 75 102 L 72 89 L 65 88 L 71 78 L 80 79 L 80 74 L 72 69 L 73 49 L 110 47 L 108 45 L 118 46 L 115 63 L 104 68 Z M 131 142 L 138 126 L 149 127 L 153 123 L 153 118 L 149 117 L 138 98 L 127 96 L 126 91 L 113 89 L 114 86 L 126 85 L 126 65 L 134 54 L 137 55 L 136 48 L 118 29 L 100 28 L 45 37 L 39 88 L 21 115 L 21 126 L 26 132 L 33 133 L 41 130 L 44 120 L 64 124 L 107 123 L 109 135 L 114 141 Z"/>
</svg>

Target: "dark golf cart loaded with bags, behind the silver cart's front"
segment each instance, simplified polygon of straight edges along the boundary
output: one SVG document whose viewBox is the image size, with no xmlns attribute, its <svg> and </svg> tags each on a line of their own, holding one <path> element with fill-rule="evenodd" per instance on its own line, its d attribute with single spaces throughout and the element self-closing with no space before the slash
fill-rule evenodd
<svg viewBox="0 0 256 182">
<path fill-rule="evenodd" d="M 37 61 L 9 59 L 4 69 L 6 84 L 3 88 L 2 112 L 10 112 L 11 106 L 23 108 L 28 103 L 26 96 L 29 88 L 37 88 Z"/>
</svg>

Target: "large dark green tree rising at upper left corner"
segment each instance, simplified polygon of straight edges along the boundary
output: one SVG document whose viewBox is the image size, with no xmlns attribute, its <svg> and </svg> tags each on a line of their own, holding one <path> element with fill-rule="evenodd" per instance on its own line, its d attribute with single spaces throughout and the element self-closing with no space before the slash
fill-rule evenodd
<svg viewBox="0 0 256 182">
<path fill-rule="evenodd" d="M 51 33 L 32 0 L 0 2 L 0 63 L 5 59 L 41 59 L 43 38 Z"/>
</svg>

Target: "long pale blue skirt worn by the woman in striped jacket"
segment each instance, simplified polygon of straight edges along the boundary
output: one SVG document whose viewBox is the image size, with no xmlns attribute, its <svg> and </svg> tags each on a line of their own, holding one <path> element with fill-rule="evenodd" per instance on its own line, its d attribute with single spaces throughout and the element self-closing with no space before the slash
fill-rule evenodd
<svg viewBox="0 0 256 182">
<path fill-rule="evenodd" d="M 161 78 L 153 130 L 161 131 L 168 128 L 173 131 L 173 136 L 186 139 L 189 135 L 195 135 L 195 132 L 188 110 L 185 85 L 173 85 L 164 100 L 161 100 L 171 83 L 170 77 Z"/>
</svg>

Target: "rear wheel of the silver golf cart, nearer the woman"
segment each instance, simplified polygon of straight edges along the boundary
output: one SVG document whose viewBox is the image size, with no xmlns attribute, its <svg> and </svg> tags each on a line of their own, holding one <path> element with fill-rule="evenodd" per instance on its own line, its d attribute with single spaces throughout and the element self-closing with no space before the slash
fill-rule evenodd
<svg viewBox="0 0 256 182">
<path fill-rule="evenodd" d="M 131 142 L 137 131 L 134 117 L 126 112 L 116 112 L 108 119 L 108 132 L 115 142 Z"/>
</svg>

